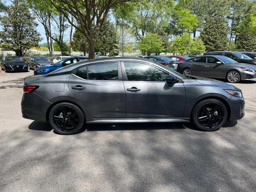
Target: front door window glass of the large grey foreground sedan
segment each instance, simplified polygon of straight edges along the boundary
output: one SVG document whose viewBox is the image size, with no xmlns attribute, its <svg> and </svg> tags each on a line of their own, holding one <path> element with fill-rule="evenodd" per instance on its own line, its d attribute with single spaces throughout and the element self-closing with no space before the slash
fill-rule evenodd
<svg viewBox="0 0 256 192">
<path fill-rule="evenodd" d="M 124 68 L 128 81 L 165 82 L 168 76 L 168 73 L 153 66 L 142 63 L 124 62 Z"/>
</svg>

